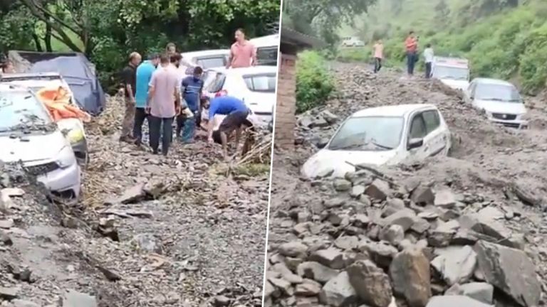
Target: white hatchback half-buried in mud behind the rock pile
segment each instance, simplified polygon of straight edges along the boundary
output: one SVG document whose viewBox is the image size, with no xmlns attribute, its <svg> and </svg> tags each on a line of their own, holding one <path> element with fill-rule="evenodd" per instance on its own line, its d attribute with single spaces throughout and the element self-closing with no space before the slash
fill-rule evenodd
<svg viewBox="0 0 547 307">
<path fill-rule="evenodd" d="M 451 145 L 448 126 L 433 104 L 363 109 L 345 119 L 301 173 L 306 178 L 343 177 L 359 164 L 394 165 L 447 155 Z"/>
</svg>

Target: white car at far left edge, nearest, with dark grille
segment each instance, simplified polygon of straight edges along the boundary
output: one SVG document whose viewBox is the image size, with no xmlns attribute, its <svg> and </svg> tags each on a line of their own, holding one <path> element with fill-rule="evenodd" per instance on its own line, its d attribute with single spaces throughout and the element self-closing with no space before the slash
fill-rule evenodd
<svg viewBox="0 0 547 307">
<path fill-rule="evenodd" d="M 71 144 L 25 87 L 0 83 L 0 161 L 21 161 L 53 193 L 80 194 L 80 166 Z"/>
</svg>

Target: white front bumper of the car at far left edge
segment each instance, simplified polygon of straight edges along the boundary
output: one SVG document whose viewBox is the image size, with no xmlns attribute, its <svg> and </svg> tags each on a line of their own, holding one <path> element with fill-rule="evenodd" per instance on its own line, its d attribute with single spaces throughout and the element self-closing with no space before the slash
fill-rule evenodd
<svg viewBox="0 0 547 307">
<path fill-rule="evenodd" d="M 58 168 L 38 176 L 37 179 L 49 190 L 59 195 L 72 195 L 76 198 L 80 195 L 81 171 L 80 166 L 76 163 L 68 168 Z"/>
</svg>

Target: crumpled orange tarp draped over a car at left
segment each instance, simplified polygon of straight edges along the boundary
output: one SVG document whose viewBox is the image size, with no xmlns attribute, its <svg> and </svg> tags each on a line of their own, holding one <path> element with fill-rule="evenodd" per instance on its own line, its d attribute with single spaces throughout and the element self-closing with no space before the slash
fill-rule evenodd
<svg viewBox="0 0 547 307">
<path fill-rule="evenodd" d="M 71 96 L 63 87 L 44 87 L 36 95 L 46 105 L 53 120 L 75 118 L 83 122 L 91 120 L 90 114 L 71 104 Z"/>
</svg>

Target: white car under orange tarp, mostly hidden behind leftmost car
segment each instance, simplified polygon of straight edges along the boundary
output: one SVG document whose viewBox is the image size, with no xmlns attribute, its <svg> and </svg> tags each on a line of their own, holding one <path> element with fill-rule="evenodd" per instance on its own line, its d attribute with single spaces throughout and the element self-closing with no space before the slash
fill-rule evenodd
<svg viewBox="0 0 547 307">
<path fill-rule="evenodd" d="M 35 93 L 45 87 L 63 87 L 71 97 L 71 104 L 78 107 L 71 87 L 57 72 L 3 75 L 0 82 L 26 87 Z M 57 122 L 57 125 L 71 143 L 74 154 L 78 158 L 78 163 L 81 166 L 87 164 L 89 161 L 88 141 L 87 136 L 85 136 L 83 122 L 80 119 L 61 119 Z"/>
</svg>

